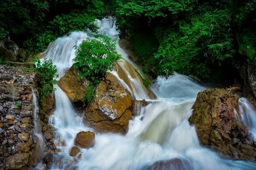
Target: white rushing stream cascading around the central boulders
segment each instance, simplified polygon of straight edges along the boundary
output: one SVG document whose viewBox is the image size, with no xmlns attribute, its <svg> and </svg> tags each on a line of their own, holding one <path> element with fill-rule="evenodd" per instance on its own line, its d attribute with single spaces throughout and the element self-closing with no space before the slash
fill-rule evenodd
<svg viewBox="0 0 256 170">
<path fill-rule="evenodd" d="M 103 19 L 97 23 L 101 34 L 114 38 L 118 36 L 114 19 Z M 75 57 L 73 46 L 80 44 L 86 37 L 90 37 L 90 33 L 73 32 L 58 38 L 49 46 L 46 58 L 53 60 L 59 77 L 72 65 Z M 170 169 L 256 169 L 254 162 L 226 160 L 200 146 L 195 128 L 188 123 L 188 117 L 197 93 L 206 87 L 175 73 L 167 79 L 158 77 L 154 81 L 152 90 L 157 99 L 150 99 L 141 88 L 142 82 L 132 76 L 135 68 L 129 69 L 136 65 L 127 59 L 119 46 L 118 52 L 129 63 L 122 62 L 120 67 L 127 72 L 131 85 L 122 81 L 118 72 L 114 71 L 113 74 L 132 92 L 135 99 L 146 99 L 151 104 L 143 107 L 140 114 L 130 120 L 126 135 L 96 133 L 94 147 L 80 149 L 76 159 L 69 156 L 76 134 L 93 129 L 83 125 L 82 117 L 75 113 L 67 95 L 56 85 L 55 111 L 49 118 L 49 124 L 56 129 L 54 142 L 61 152 L 56 156 L 51 169 L 147 169 L 152 163 L 161 160 L 173 160 L 178 164 L 174 163 Z M 253 114 L 255 117 L 256 113 Z"/>
</svg>

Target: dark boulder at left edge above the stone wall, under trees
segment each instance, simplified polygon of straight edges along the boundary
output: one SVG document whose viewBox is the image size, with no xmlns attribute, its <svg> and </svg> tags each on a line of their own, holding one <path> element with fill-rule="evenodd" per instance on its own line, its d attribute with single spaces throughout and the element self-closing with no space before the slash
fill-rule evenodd
<svg viewBox="0 0 256 170">
<path fill-rule="evenodd" d="M 0 40 L 0 58 L 4 61 L 16 61 L 18 55 L 17 44 L 10 39 Z"/>
</svg>

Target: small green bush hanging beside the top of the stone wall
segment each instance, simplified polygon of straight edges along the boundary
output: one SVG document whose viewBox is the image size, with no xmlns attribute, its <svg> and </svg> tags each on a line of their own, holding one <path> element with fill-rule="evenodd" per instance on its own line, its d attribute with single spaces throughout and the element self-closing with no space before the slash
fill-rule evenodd
<svg viewBox="0 0 256 170">
<path fill-rule="evenodd" d="M 39 87 L 39 102 L 42 103 L 44 99 L 55 90 L 53 85 L 57 83 L 57 68 L 56 65 L 53 65 L 52 60 L 47 60 L 46 58 L 42 62 L 38 58 L 33 62 L 36 63 L 34 71 L 36 72 L 38 79 L 37 85 Z"/>
</svg>

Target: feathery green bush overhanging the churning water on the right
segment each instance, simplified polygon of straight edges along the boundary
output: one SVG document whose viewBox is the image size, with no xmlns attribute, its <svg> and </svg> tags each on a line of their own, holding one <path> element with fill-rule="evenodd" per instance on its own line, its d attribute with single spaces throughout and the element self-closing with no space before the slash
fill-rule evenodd
<svg viewBox="0 0 256 170">
<path fill-rule="evenodd" d="M 208 79 L 214 74 L 213 66 L 221 66 L 235 53 L 230 27 L 228 12 L 218 10 L 193 16 L 191 22 L 180 21 L 175 29 L 156 30 L 162 37 L 153 59 L 157 73 L 178 71 Z"/>
</svg>

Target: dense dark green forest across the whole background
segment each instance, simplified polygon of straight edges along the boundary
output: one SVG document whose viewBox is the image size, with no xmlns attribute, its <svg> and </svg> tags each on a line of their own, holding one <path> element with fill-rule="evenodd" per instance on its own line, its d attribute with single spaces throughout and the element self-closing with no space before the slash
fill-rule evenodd
<svg viewBox="0 0 256 170">
<path fill-rule="evenodd" d="M 94 20 L 112 16 L 153 78 L 177 71 L 231 83 L 237 67 L 256 66 L 255 8 L 256 0 L 2 0 L 0 39 L 36 54 L 69 32 L 96 32 Z"/>
</svg>

